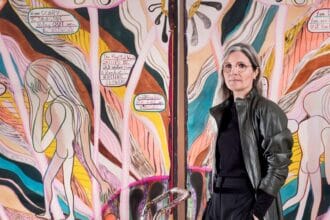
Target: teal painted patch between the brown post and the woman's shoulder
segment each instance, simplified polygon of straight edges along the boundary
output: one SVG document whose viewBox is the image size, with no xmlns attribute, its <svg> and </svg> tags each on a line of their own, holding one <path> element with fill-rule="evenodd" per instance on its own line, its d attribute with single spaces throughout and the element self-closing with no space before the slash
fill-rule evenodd
<svg viewBox="0 0 330 220">
<path fill-rule="evenodd" d="M 214 92 L 217 87 L 218 73 L 212 73 L 205 81 L 199 96 L 188 104 L 188 149 L 195 139 L 203 132 L 212 106 Z"/>
</svg>

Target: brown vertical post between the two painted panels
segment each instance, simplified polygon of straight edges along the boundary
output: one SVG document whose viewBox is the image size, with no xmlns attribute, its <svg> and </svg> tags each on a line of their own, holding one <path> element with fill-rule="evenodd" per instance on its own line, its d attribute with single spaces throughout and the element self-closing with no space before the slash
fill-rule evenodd
<svg viewBox="0 0 330 220">
<path fill-rule="evenodd" d="M 171 0 L 170 10 L 173 11 L 174 41 L 173 41 L 173 144 L 174 157 L 172 161 L 174 185 L 186 188 L 187 170 L 187 72 L 186 72 L 186 21 L 185 0 Z M 174 211 L 174 219 L 186 219 L 186 201 L 178 205 Z"/>
</svg>

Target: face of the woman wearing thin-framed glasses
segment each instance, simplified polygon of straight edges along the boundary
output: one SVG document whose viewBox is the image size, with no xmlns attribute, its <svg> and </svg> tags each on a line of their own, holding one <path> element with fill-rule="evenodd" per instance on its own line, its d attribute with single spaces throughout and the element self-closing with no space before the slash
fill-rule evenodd
<svg viewBox="0 0 330 220">
<path fill-rule="evenodd" d="M 230 53 L 222 68 L 226 86 L 233 92 L 234 98 L 244 98 L 252 89 L 258 69 L 253 70 L 249 58 L 241 51 Z"/>
</svg>

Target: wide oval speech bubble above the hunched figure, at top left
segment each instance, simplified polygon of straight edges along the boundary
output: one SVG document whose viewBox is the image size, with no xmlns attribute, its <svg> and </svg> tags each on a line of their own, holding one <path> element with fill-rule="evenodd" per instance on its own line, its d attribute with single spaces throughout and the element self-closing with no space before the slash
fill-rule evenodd
<svg viewBox="0 0 330 220">
<path fill-rule="evenodd" d="M 79 22 L 72 14 L 56 8 L 32 9 L 28 21 L 31 27 L 45 35 L 73 34 L 79 29 Z"/>
</svg>

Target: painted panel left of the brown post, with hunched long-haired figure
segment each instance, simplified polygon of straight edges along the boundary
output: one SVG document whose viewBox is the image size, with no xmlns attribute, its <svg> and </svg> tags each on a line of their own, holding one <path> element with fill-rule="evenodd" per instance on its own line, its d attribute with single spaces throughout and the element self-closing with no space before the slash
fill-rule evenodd
<svg viewBox="0 0 330 220">
<path fill-rule="evenodd" d="M 137 219 L 170 185 L 167 3 L 0 8 L 0 219 Z"/>
</svg>

